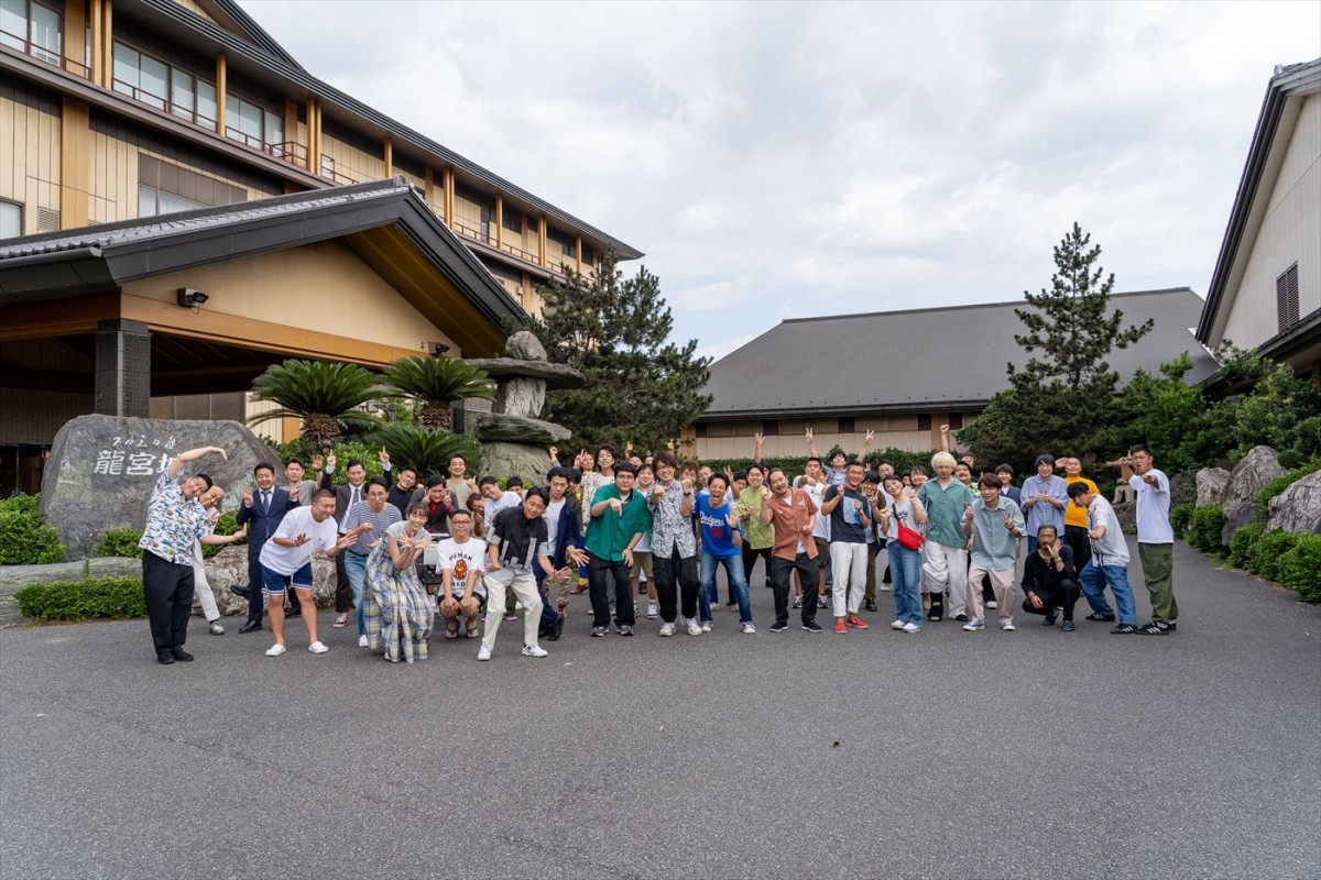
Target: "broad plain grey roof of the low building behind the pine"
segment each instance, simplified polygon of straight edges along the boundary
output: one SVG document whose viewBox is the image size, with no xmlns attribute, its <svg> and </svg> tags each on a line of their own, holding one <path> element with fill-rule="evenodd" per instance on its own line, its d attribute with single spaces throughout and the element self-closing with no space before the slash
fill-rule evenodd
<svg viewBox="0 0 1321 880">
<path fill-rule="evenodd" d="M 1193 358 L 1194 384 L 1215 361 L 1193 339 L 1202 299 L 1189 288 L 1111 296 L 1125 323 L 1155 319 L 1153 330 L 1110 365 L 1122 379 L 1139 367 L 1156 372 L 1181 352 Z M 700 421 L 761 416 L 979 409 L 1009 380 L 1005 365 L 1026 363 L 1013 342 L 1024 331 L 1015 314 L 1026 303 L 995 302 L 946 309 L 782 321 L 711 365 L 713 396 Z"/>
</svg>

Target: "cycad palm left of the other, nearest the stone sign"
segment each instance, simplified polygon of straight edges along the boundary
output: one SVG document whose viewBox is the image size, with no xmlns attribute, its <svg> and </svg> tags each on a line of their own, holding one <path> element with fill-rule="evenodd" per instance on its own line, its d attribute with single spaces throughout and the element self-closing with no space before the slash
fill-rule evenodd
<svg viewBox="0 0 1321 880">
<path fill-rule="evenodd" d="M 339 437 L 346 422 L 375 424 L 358 408 L 376 397 L 376 377 L 357 364 L 322 360 L 285 360 L 268 367 L 252 383 L 252 398 L 279 405 L 248 418 L 259 425 L 272 418 L 303 420 L 303 437 L 312 449 L 324 449 Z"/>
</svg>

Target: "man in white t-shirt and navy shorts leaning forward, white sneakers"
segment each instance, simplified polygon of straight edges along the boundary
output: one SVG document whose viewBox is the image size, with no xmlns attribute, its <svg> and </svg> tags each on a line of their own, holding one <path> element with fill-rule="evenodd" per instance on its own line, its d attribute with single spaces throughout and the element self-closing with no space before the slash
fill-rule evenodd
<svg viewBox="0 0 1321 880">
<path fill-rule="evenodd" d="M 271 617 L 271 632 L 275 644 L 266 652 L 267 657 L 284 653 L 284 594 L 293 587 L 303 607 L 303 623 L 308 627 L 308 650 L 324 654 L 326 648 L 317 639 L 317 606 L 312 599 L 312 557 L 325 550 L 332 559 L 355 542 L 358 537 L 371 530 L 371 524 L 363 524 L 338 536 L 334 522 L 334 492 L 317 489 L 312 496 L 312 507 L 299 507 L 284 515 L 280 526 L 271 540 L 262 546 L 262 592 L 267 599 L 267 613 Z"/>
</svg>

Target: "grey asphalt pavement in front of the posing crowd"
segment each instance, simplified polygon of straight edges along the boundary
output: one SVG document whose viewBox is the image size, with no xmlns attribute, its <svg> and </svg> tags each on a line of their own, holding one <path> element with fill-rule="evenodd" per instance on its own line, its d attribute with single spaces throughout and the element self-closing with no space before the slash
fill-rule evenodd
<svg viewBox="0 0 1321 880">
<path fill-rule="evenodd" d="M 1321 612 L 1176 573 L 1164 639 L 905 636 L 888 595 L 865 633 L 671 640 L 588 639 L 579 596 L 551 657 L 502 629 L 481 665 L 4 631 L 0 876 L 1321 876 Z"/>
</svg>

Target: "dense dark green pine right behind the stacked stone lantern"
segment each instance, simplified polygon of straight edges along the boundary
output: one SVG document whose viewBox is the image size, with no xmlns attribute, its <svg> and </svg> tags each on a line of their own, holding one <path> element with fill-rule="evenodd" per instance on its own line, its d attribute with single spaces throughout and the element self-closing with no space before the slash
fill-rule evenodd
<svg viewBox="0 0 1321 880">
<path fill-rule="evenodd" d="M 550 360 L 585 377 L 583 388 L 547 394 L 546 418 L 573 431 L 563 449 L 610 443 L 663 449 L 711 404 L 703 394 L 711 364 L 696 339 L 668 342 L 674 318 L 657 276 L 639 268 L 625 278 L 614 253 L 594 277 L 568 270 L 540 288 L 546 310 L 511 330 L 530 330 Z"/>
</svg>

